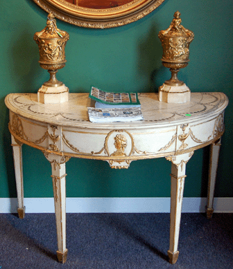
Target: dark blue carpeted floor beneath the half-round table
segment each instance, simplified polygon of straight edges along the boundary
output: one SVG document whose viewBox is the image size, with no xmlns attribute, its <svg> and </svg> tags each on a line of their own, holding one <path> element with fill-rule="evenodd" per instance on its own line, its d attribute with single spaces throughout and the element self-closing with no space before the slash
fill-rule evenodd
<svg viewBox="0 0 233 269">
<path fill-rule="evenodd" d="M 233 214 L 182 214 L 180 256 L 168 262 L 169 214 L 67 214 L 58 263 L 54 214 L 0 214 L 1 269 L 232 269 Z"/>
</svg>

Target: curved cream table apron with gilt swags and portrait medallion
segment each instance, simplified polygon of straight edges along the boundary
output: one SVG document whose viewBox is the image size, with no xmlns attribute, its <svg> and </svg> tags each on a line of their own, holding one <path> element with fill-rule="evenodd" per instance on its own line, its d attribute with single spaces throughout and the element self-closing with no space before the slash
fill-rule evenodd
<svg viewBox="0 0 233 269">
<path fill-rule="evenodd" d="M 10 111 L 10 133 L 42 151 L 98 160 L 140 160 L 179 155 L 212 144 L 223 135 L 224 115 L 154 129 L 83 129 L 36 122 Z M 117 144 L 118 143 L 118 144 Z"/>
</svg>

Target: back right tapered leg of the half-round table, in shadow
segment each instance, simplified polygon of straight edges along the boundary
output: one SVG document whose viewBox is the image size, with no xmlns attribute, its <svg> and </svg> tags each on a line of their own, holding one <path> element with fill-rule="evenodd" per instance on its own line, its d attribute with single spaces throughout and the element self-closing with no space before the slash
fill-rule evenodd
<svg viewBox="0 0 233 269">
<path fill-rule="evenodd" d="M 209 152 L 209 179 L 208 179 L 208 195 L 207 195 L 207 218 L 211 219 L 214 208 L 214 189 L 216 183 L 216 175 L 217 175 L 217 168 L 218 168 L 218 156 L 221 147 L 221 139 L 214 142 L 210 145 L 210 152 Z"/>
</svg>

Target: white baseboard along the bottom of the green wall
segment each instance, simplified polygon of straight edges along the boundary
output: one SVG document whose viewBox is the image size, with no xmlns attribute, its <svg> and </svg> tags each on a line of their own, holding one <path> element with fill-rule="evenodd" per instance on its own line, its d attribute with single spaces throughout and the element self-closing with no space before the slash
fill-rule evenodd
<svg viewBox="0 0 233 269">
<path fill-rule="evenodd" d="M 205 212 L 207 198 L 185 198 L 183 213 Z M 26 213 L 54 213 L 53 198 L 24 198 Z M 16 213 L 17 198 L 0 198 L 0 213 Z M 170 198 L 67 198 L 67 213 L 169 213 Z M 214 212 L 232 213 L 233 198 L 214 198 Z"/>
</svg>

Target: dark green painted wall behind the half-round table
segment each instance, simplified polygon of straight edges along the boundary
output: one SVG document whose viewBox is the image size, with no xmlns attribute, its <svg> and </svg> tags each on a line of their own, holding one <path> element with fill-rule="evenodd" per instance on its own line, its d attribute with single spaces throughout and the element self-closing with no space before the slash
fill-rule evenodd
<svg viewBox="0 0 233 269">
<path fill-rule="evenodd" d="M 94 30 L 57 21 L 70 39 L 67 65 L 58 79 L 71 93 L 103 90 L 157 92 L 170 77 L 162 66 L 159 30 L 168 28 L 179 10 L 182 25 L 193 30 L 190 63 L 180 71 L 192 92 L 223 91 L 230 99 L 225 112 L 225 134 L 216 183 L 216 196 L 232 197 L 232 0 L 166 0 L 150 15 L 119 28 Z M 35 32 L 46 25 L 46 12 L 31 0 L 1 1 L 0 5 L 0 197 L 16 197 L 15 176 L 8 132 L 8 93 L 36 93 L 49 74 L 38 64 Z M 51 167 L 42 152 L 24 145 L 26 197 L 53 196 Z M 203 163 L 203 165 L 202 165 Z M 73 158 L 67 163 L 68 197 L 166 197 L 170 196 L 171 163 L 163 159 L 132 162 L 114 170 L 103 161 Z M 195 152 L 187 164 L 184 196 L 206 196 L 208 149 Z"/>
</svg>

